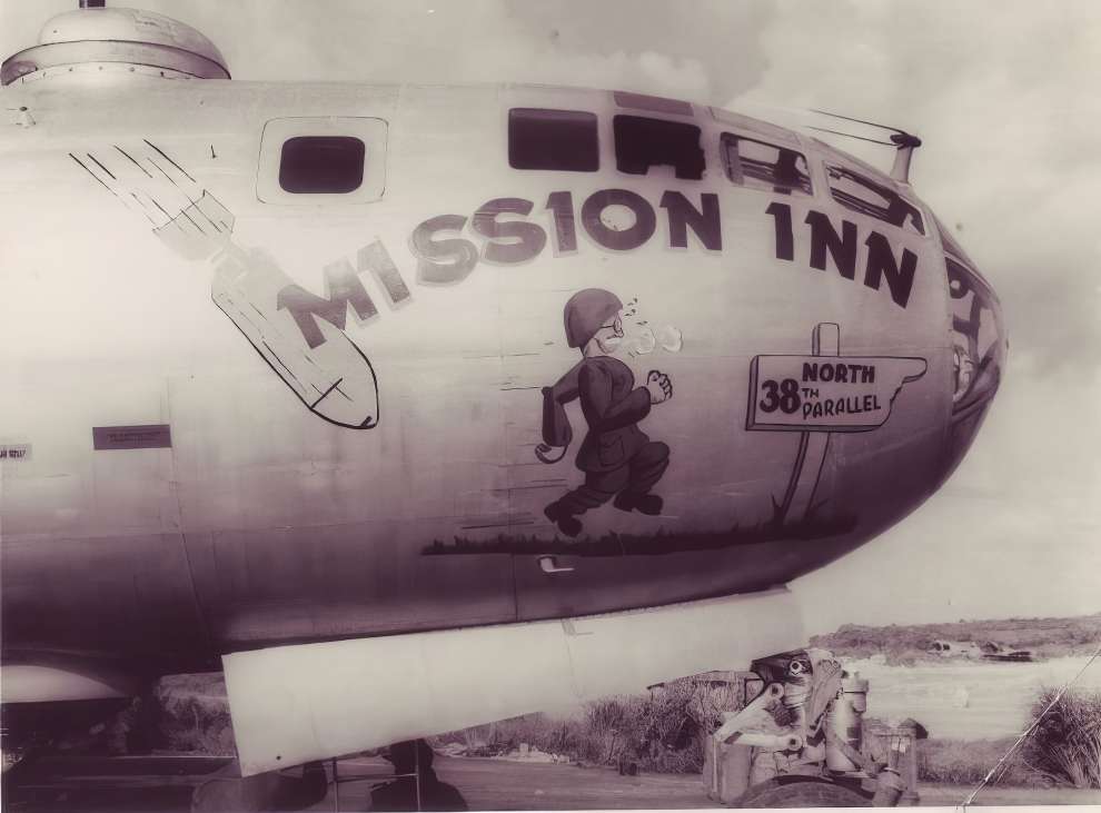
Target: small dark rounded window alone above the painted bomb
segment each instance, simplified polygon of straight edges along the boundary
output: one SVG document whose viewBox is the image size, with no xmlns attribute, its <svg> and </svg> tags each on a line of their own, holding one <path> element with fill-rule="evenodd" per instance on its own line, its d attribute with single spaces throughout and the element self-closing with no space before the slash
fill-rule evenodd
<svg viewBox="0 0 1101 813">
<path fill-rule="evenodd" d="M 294 195 L 346 195 L 364 182 L 367 146 L 350 136 L 298 136 L 282 143 L 279 186 Z"/>
</svg>

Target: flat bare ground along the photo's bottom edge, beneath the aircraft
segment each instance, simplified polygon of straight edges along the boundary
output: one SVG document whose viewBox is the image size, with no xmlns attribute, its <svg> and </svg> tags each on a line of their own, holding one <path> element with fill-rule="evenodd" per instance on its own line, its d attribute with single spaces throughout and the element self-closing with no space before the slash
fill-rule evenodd
<svg viewBox="0 0 1101 813">
<path fill-rule="evenodd" d="M 188 757 L 182 757 L 187 760 Z M 211 765 L 224 761 L 210 757 Z M 79 770 L 43 775 L 34 787 L 6 789 L 4 811 L 36 813 L 187 813 L 191 791 L 212 767 L 172 769 L 152 775 L 157 766 L 141 766 L 141 757 L 128 757 L 120 771 L 118 761 L 86 761 Z M 161 761 L 163 762 L 163 761 Z M 93 764 L 96 763 L 96 764 Z M 165 770 L 163 764 L 159 765 Z M 439 777 L 459 790 L 470 810 L 625 810 L 703 809 L 714 804 L 706 797 L 698 775 L 643 774 L 621 776 L 614 770 L 567 764 L 520 763 L 500 760 L 436 757 Z M 386 781 L 389 764 L 383 760 L 351 759 L 339 764 L 341 779 L 365 777 L 340 784 L 341 811 L 369 809 L 370 789 Z M 921 803 L 956 806 L 970 792 L 956 785 L 922 785 Z M 333 786 L 328 796 L 309 810 L 334 811 Z M 993 787 L 975 800 L 979 805 L 1101 804 L 1101 791 Z"/>
</svg>

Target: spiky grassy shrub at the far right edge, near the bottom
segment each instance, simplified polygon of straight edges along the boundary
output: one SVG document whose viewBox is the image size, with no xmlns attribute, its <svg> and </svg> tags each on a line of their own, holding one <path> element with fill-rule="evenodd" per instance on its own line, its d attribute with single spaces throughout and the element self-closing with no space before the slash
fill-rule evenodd
<svg viewBox="0 0 1101 813">
<path fill-rule="evenodd" d="M 1036 720 L 1055 700 L 1044 688 L 1032 706 Z M 1024 760 L 1036 772 L 1074 787 L 1101 789 L 1101 692 L 1068 692 L 1024 745 Z"/>
</svg>

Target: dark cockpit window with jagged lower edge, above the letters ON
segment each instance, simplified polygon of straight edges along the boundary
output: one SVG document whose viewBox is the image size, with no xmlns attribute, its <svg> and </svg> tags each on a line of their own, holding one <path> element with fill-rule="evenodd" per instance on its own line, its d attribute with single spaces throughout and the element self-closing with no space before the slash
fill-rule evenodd
<svg viewBox="0 0 1101 813">
<path fill-rule="evenodd" d="M 681 121 L 642 116 L 616 116 L 616 169 L 631 175 L 646 175 L 651 167 L 671 166 L 677 178 L 700 180 L 704 172 L 704 152 L 700 128 Z"/>
</svg>

